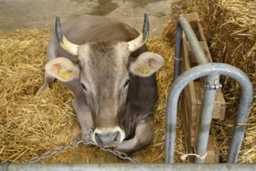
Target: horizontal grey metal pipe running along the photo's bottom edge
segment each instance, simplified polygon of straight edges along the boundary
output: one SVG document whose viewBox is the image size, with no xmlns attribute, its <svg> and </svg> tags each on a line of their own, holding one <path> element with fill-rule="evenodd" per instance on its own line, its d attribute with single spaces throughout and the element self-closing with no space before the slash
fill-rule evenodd
<svg viewBox="0 0 256 171">
<path fill-rule="evenodd" d="M 110 170 L 110 171 L 130 171 L 130 170 L 140 170 L 140 171 L 212 171 L 212 170 L 234 170 L 234 171 L 249 171 L 256 170 L 256 164 L 130 164 L 130 163 L 116 163 L 116 164 L 82 164 L 82 163 L 40 163 L 40 164 L 15 164 L 10 163 L 5 166 L 5 163 L 0 163 L 0 171 L 100 171 L 100 170 Z"/>
</svg>

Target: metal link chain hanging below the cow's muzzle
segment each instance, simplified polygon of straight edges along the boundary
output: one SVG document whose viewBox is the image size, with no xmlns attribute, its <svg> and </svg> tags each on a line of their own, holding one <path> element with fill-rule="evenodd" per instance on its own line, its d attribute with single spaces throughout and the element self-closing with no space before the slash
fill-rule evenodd
<svg viewBox="0 0 256 171">
<path fill-rule="evenodd" d="M 51 152 L 45 152 L 43 155 L 40 155 L 39 157 L 33 157 L 32 159 L 28 160 L 27 162 L 28 163 L 35 163 L 35 162 L 38 162 L 40 161 L 41 159 L 48 159 L 48 158 L 51 158 L 52 155 L 54 155 L 55 153 L 62 153 L 62 152 L 65 152 L 66 149 L 68 148 L 75 148 L 76 146 L 78 146 L 79 144 L 83 143 L 84 145 L 96 145 L 93 141 L 91 141 L 90 139 L 90 135 L 93 131 L 93 126 L 90 128 L 90 131 L 89 131 L 89 134 L 86 134 L 86 138 L 89 138 L 89 142 L 86 142 L 84 139 L 80 140 L 80 141 L 73 141 L 72 143 L 70 143 L 69 145 L 67 146 L 61 146 L 59 148 L 57 148 L 56 150 L 54 151 L 51 151 Z M 98 146 L 100 147 L 100 146 Z M 112 148 L 103 148 L 103 147 L 100 147 L 100 149 L 102 149 L 103 151 L 105 152 L 110 152 L 114 155 L 117 155 L 119 158 L 121 159 L 127 159 L 133 163 L 139 163 L 139 162 L 142 162 L 140 161 L 139 159 L 135 159 L 135 158 L 132 158 L 132 157 L 129 157 L 127 154 L 125 154 L 124 152 L 118 152 L 117 150 L 115 149 L 112 149 Z"/>
</svg>

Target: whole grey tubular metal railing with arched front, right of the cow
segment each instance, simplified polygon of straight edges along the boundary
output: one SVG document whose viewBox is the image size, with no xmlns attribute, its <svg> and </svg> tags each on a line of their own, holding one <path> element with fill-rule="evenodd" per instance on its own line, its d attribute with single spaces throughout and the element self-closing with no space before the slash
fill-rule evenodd
<svg viewBox="0 0 256 171">
<path fill-rule="evenodd" d="M 194 68 L 181 74 L 181 47 L 182 47 L 182 32 L 184 31 L 188 43 L 191 46 L 193 54 L 198 62 Z M 175 61 L 174 61 L 174 84 L 170 89 L 167 99 L 167 134 L 165 138 L 165 162 L 174 163 L 174 149 L 176 137 L 177 123 L 177 104 L 181 91 L 189 82 L 200 77 L 205 79 L 205 93 L 203 98 L 202 118 L 199 125 L 198 141 L 196 152 L 199 156 L 204 156 L 207 149 L 209 131 L 212 122 L 212 110 L 214 100 L 216 98 L 216 89 L 219 89 L 220 75 L 226 75 L 238 82 L 241 87 L 241 98 L 239 110 L 237 112 L 237 120 L 233 129 L 233 136 L 230 143 L 229 152 L 226 162 L 237 162 L 240 145 L 243 141 L 244 131 L 247 124 L 248 112 L 253 102 L 253 87 L 250 79 L 240 69 L 232 65 L 222 63 L 209 63 L 205 52 L 202 50 L 190 23 L 184 17 L 178 19 L 176 27 L 176 42 L 175 42 Z M 203 163 L 204 159 L 195 157 L 195 162 Z"/>
</svg>

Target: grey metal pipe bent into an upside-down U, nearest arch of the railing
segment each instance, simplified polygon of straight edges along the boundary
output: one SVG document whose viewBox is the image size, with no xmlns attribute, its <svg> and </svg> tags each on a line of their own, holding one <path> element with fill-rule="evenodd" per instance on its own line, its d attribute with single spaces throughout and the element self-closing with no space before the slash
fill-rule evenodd
<svg viewBox="0 0 256 171">
<path fill-rule="evenodd" d="M 231 79 L 238 82 L 241 87 L 242 95 L 240 99 L 240 110 L 237 113 L 236 127 L 234 127 L 233 137 L 231 140 L 229 152 L 230 158 L 233 162 L 237 161 L 237 155 L 240 150 L 240 143 L 243 140 L 245 131 L 245 124 L 247 123 L 247 114 L 250 110 L 253 102 L 253 88 L 247 75 L 240 69 L 233 67 L 232 65 L 222 63 L 208 63 L 205 65 L 198 65 L 194 68 L 184 72 L 173 83 L 168 99 L 167 99 L 167 120 L 166 120 L 166 138 L 165 138 L 165 162 L 174 163 L 174 150 L 175 150 L 175 137 L 176 137 L 176 120 L 177 120 L 177 101 L 181 91 L 189 82 L 198 79 L 205 75 L 211 75 L 217 73 L 218 75 L 226 75 Z M 237 127 L 238 124 L 242 124 Z"/>
</svg>

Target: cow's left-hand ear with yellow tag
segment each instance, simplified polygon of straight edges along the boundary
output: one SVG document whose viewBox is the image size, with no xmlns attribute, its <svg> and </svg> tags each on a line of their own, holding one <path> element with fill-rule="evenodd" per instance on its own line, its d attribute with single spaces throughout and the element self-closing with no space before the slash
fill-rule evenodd
<svg viewBox="0 0 256 171">
<path fill-rule="evenodd" d="M 69 82 L 79 77 L 79 66 L 67 58 L 54 58 L 45 65 L 45 72 L 61 82 Z"/>
</svg>

